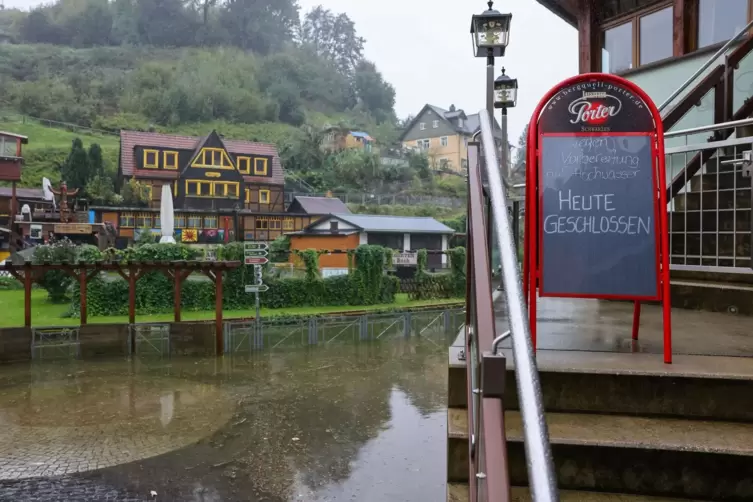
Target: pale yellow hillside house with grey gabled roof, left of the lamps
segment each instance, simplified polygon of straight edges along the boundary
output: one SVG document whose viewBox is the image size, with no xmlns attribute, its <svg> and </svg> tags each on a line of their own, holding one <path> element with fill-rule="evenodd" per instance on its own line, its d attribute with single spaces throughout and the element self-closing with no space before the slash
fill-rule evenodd
<svg viewBox="0 0 753 502">
<path fill-rule="evenodd" d="M 425 152 L 434 170 L 462 172 L 468 168 L 468 142 L 480 127 L 478 113 L 468 115 L 425 105 L 399 138 L 404 148 Z"/>
</svg>

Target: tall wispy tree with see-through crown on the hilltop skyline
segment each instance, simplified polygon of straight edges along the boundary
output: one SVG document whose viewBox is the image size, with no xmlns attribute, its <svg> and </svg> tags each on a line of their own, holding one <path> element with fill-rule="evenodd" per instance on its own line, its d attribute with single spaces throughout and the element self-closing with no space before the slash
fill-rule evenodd
<svg viewBox="0 0 753 502">
<path fill-rule="evenodd" d="M 301 40 L 320 56 L 333 61 L 343 75 L 353 75 L 363 59 L 365 40 L 356 33 L 355 23 L 347 14 L 335 15 L 321 5 L 306 14 Z"/>
</svg>

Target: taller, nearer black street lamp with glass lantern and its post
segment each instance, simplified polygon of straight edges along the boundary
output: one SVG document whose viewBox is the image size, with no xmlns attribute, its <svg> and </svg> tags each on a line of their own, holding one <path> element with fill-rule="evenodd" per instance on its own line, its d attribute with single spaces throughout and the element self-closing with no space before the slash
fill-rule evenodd
<svg viewBox="0 0 753 502">
<path fill-rule="evenodd" d="M 494 123 L 494 58 L 505 55 L 510 40 L 512 14 L 501 14 L 494 10 L 494 2 L 487 2 L 489 9 L 471 18 L 471 38 L 473 53 L 477 58 L 486 58 L 486 109 Z"/>
</svg>

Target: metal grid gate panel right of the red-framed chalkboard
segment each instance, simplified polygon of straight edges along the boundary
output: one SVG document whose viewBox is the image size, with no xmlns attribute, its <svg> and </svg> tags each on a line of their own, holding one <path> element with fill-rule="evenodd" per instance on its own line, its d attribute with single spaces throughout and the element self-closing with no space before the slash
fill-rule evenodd
<svg viewBox="0 0 753 502">
<path fill-rule="evenodd" d="M 752 144 L 742 137 L 667 148 L 670 190 L 677 194 L 668 207 L 672 269 L 753 273 L 745 160 Z"/>
</svg>

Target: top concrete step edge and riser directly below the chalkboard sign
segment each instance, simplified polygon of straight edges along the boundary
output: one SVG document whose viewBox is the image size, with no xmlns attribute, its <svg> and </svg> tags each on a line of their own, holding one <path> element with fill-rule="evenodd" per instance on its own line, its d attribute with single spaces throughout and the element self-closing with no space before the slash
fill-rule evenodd
<svg viewBox="0 0 753 502">
<path fill-rule="evenodd" d="M 503 352 L 505 409 L 518 410 L 515 364 Z M 675 355 L 664 364 L 656 354 L 540 350 L 536 361 L 547 412 L 753 422 L 753 358 Z"/>
</svg>

